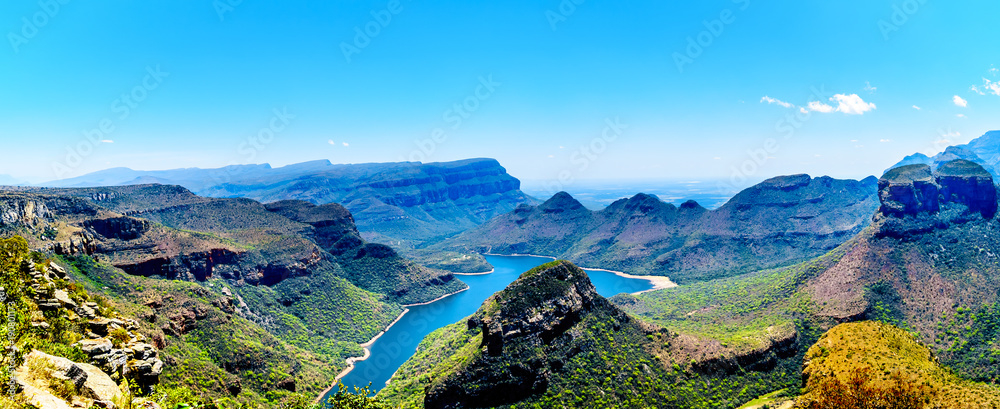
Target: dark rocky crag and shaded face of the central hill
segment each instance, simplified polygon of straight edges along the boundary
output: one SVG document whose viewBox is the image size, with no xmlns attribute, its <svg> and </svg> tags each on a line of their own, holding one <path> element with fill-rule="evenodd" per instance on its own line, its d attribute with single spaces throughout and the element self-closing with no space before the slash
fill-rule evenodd
<svg viewBox="0 0 1000 409">
<path fill-rule="evenodd" d="M 545 392 L 553 376 L 562 376 L 555 374 L 567 355 L 586 353 L 570 344 L 587 331 L 579 327 L 588 316 L 600 316 L 597 320 L 615 330 L 634 326 L 569 262 L 522 274 L 468 319 L 469 330 L 482 333 L 484 353 L 428 390 L 425 407 L 497 406 Z"/>
</svg>

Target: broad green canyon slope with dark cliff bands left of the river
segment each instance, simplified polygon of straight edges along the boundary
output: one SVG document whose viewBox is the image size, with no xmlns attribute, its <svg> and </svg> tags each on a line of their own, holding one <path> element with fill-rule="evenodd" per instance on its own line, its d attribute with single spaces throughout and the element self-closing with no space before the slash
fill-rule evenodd
<svg viewBox="0 0 1000 409">
<path fill-rule="evenodd" d="M 95 291 L 145 314 L 178 345 L 171 356 L 196 363 L 185 370 L 212 378 L 205 393 L 238 401 L 318 393 L 400 304 L 464 288 L 365 242 L 338 205 L 268 208 L 146 185 L 5 192 L 0 214 L 3 234 L 102 277 Z"/>
</svg>

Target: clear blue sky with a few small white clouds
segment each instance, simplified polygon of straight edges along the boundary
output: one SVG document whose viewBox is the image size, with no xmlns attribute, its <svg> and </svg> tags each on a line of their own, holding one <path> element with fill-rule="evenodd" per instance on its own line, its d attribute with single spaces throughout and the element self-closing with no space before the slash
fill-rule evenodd
<svg viewBox="0 0 1000 409">
<path fill-rule="evenodd" d="M 996 2 L 237 3 L 3 2 L 0 174 L 859 178 L 1000 128 Z"/>
</svg>

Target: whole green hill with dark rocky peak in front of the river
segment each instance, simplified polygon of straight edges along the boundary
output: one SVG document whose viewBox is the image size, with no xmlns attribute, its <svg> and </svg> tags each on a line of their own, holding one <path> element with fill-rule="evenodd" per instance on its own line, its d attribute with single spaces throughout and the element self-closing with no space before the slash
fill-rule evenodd
<svg viewBox="0 0 1000 409">
<path fill-rule="evenodd" d="M 747 365 L 742 378 L 709 371 L 692 361 L 702 347 L 627 315 L 555 261 L 429 335 L 378 396 L 403 408 L 735 407 L 793 370 L 766 352 L 732 358 Z"/>
</svg>

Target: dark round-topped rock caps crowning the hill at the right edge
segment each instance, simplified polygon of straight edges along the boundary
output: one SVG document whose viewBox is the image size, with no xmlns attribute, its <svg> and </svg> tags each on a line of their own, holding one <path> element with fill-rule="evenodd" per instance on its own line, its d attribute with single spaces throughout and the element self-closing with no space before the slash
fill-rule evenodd
<svg viewBox="0 0 1000 409">
<path fill-rule="evenodd" d="M 943 163 L 936 171 L 924 164 L 893 168 L 879 179 L 878 186 L 879 210 L 886 216 L 936 213 L 949 204 L 964 205 L 985 218 L 992 218 L 997 210 L 993 177 L 964 159 Z"/>
</svg>

